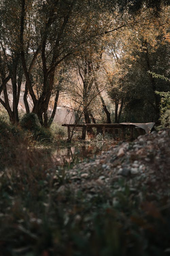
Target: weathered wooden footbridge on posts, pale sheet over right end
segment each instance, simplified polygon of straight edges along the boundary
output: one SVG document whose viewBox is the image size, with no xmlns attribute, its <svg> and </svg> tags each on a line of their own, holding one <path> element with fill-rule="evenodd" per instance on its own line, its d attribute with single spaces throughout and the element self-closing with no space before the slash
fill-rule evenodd
<svg viewBox="0 0 170 256">
<path fill-rule="evenodd" d="M 85 140 L 86 138 L 86 131 L 87 128 L 97 128 L 101 129 L 103 133 L 103 138 L 105 136 L 105 131 L 108 129 L 112 130 L 113 136 L 115 134 L 116 129 L 121 130 L 121 138 L 122 140 L 125 139 L 126 130 L 125 128 L 130 129 L 130 139 L 133 140 L 133 130 L 135 128 L 139 129 L 139 133 L 142 134 L 143 130 L 145 130 L 146 133 L 150 133 L 151 129 L 155 123 L 120 123 L 120 124 L 62 124 L 62 126 L 66 126 L 68 130 L 68 140 L 71 138 L 71 127 L 82 127 L 82 140 Z"/>
</svg>

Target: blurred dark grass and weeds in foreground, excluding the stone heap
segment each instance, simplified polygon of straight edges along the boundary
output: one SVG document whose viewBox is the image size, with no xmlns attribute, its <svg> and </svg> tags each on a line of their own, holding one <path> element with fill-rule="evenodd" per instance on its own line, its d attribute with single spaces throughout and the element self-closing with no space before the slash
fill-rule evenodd
<svg viewBox="0 0 170 256">
<path fill-rule="evenodd" d="M 67 186 L 50 142 L 34 146 L 31 133 L 4 122 L 0 131 L 0 255 L 168 255 L 170 191 L 120 179 L 89 200 Z"/>
</svg>

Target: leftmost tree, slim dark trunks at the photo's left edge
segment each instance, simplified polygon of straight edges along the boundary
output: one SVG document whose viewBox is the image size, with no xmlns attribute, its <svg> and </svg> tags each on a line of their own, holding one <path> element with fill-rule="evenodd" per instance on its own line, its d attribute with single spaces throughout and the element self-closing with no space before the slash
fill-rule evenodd
<svg viewBox="0 0 170 256">
<path fill-rule="evenodd" d="M 19 122 L 18 102 L 22 82 L 23 71 L 20 60 L 19 47 L 19 2 L 15 0 L 11 8 L 8 0 L 0 4 L 0 94 L 3 91 L 4 101 L 0 103 L 7 110 L 11 122 Z M 6 83 L 11 79 L 13 90 L 13 106 L 10 106 Z"/>
</svg>

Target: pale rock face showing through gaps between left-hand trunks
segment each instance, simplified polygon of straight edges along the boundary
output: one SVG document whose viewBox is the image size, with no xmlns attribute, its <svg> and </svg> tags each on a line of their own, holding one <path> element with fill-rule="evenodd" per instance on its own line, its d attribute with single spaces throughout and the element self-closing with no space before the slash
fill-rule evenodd
<svg viewBox="0 0 170 256">
<path fill-rule="evenodd" d="M 7 94 L 8 94 L 9 103 L 10 103 L 10 106 L 12 108 L 13 93 L 12 93 L 11 80 L 8 81 L 8 83 L 6 84 L 6 87 L 7 87 Z M 18 104 L 18 111 L 22 112 L 22 113 L 26 113 L 26 108 L 25 108 L 24 101 L 23 101 L 24 90 L 25 90 L 25 84 L 22 83 L 21 84 L 20 97 L 19 97 L 19 104 Z M 1 93 L 0 98 L 2 100 L 4 100 L 3 93 Z M 31 96 L 29 94 L 27 95 L 27 101 L 28 101 L 28 104 L 29 104 L 30 111 L 32 111 L 33 102 L 32 102 Z M 49 108 L 48 113 L 49 113 L 49 115 L 51 115 L 52 114 L 52 109 Z M 75 114 L 73 113 L 72 110 L 70 110 L 66 106 L 65 107 L 59 107 L 58 106 L 57 109 L 56 109 L 56 113 L 55 113 L 53 122 L 57 123 L 57 124 L 74 124 L 75 123 Z"/>
</svg>

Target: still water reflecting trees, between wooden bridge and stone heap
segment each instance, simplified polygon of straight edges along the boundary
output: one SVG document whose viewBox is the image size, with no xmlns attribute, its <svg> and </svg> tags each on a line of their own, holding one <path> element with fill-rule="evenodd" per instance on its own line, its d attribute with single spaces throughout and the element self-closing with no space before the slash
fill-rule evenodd
<svg viewBox="0 0 170 256">
<path fill-rule="evenodd" d="M 102 151 L 107 151 L 114 144 L 97 143 L 90 145 L 81 145 L 75 147 L 60 147 L 53 152 L 53 158 L 57 165 L 69 164 L 71 162 L 82 162 L 85 158 L 90 158 L 93 155 L 100 154 Z"/>
</svg>

